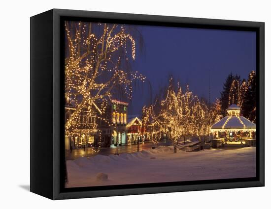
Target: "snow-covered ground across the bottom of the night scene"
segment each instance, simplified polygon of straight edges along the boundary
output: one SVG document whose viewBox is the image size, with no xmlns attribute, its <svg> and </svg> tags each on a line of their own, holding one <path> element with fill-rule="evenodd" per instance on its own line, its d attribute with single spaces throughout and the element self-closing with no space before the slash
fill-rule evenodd
<svg viewBox="0 0 271 209">
<path fill-rule="evenodd" d="M 119 156 L 80 157 L 68 160 L 67 169 L 67 187 L 255 177 L 256 148 L 174 154 L 172 146 L 159 147 Z M 98 173 L 108 179 L 97 178 Z"/>
</svg>

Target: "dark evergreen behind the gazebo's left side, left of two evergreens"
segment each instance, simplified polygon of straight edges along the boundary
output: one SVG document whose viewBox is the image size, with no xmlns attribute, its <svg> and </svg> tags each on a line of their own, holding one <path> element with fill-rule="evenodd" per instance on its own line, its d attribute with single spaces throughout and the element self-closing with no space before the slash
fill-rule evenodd
<svg viewBox="0 0 271 209">
<path fill-rule="evenodd" d="M 239 83 L 240 81 L 240 76 L 236 75 L 234 76 L 233 73 L 230 73 L 224 83 L 223 86 L 223 91 L 220 92 L 221 94 L 221 115 L 223 115 L 223 117 L 226 116 L 226 110 L 229 107 L 229 96 L 230 96 L 230 91 L 231 91 L 231 87 L 232 84 L 234 82 L 234 80 L 237 80 L 237 83 Z M 234 95 L 237 94 L 237 91 L 234 92 Z M 237 98 L 237 95 L 236 95 Z"/>
</svg>

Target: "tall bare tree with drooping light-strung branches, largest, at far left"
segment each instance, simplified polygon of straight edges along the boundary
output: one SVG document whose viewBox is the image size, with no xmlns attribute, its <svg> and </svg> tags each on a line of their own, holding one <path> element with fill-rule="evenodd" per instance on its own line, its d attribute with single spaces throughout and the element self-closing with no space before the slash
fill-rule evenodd
<svg viewBox="0 0 271 209">
<path fill-rule="evenodd" d="M 85 108 L 95 109 L 90 116 L 110 125 L 102 113 L 112 95 L 121 91 L 131 99 L 132 82 L 145 77 L 122 70 L 123 62 L 135 59 L 135 40 L 124 26 L 66 21 L 65 30 L 65 98 L 74 108 L 65 123 L 70 135 L 78 129 Z"/>
</svg>

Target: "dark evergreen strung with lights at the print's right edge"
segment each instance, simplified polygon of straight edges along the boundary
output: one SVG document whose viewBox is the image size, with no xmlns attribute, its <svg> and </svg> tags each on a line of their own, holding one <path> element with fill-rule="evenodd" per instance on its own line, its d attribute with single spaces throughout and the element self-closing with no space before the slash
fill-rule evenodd
<svg viewBox="0 0 271 209">
<path fill-rule="evenodd" d="M 256 73 L 252 71 L 248 76 L 241 114 L 254 123 L 256 123 L 256 101 Z"/>
</svg>

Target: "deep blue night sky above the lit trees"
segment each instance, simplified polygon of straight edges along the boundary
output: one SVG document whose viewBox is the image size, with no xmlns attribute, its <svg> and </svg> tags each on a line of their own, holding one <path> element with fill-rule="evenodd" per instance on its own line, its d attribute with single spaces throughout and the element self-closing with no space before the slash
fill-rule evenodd
<svg viewBox="0 0 271 209">
<path fill-rule="evenodd" d="M 143 51 L 136 51 L 133 71 L 145 75 L 152 86 L 153 97 L 160 86 L 168 85 L 169 75 L 180 81 L 194 95 L 208 99 L 210 72 L 211 102 L 220 97 L 223 83 L 233 72 L 247 78 L 256 70 L 256 32 L 136 26 L 143 37 Z M 135 40 L 138 42 L 138 40 Z M 183 89 L 184 90 L 184 89 Z M 135 88 L 130 114 L 141 113 L 150 102 L 147 84 Z"/>
</svg>

